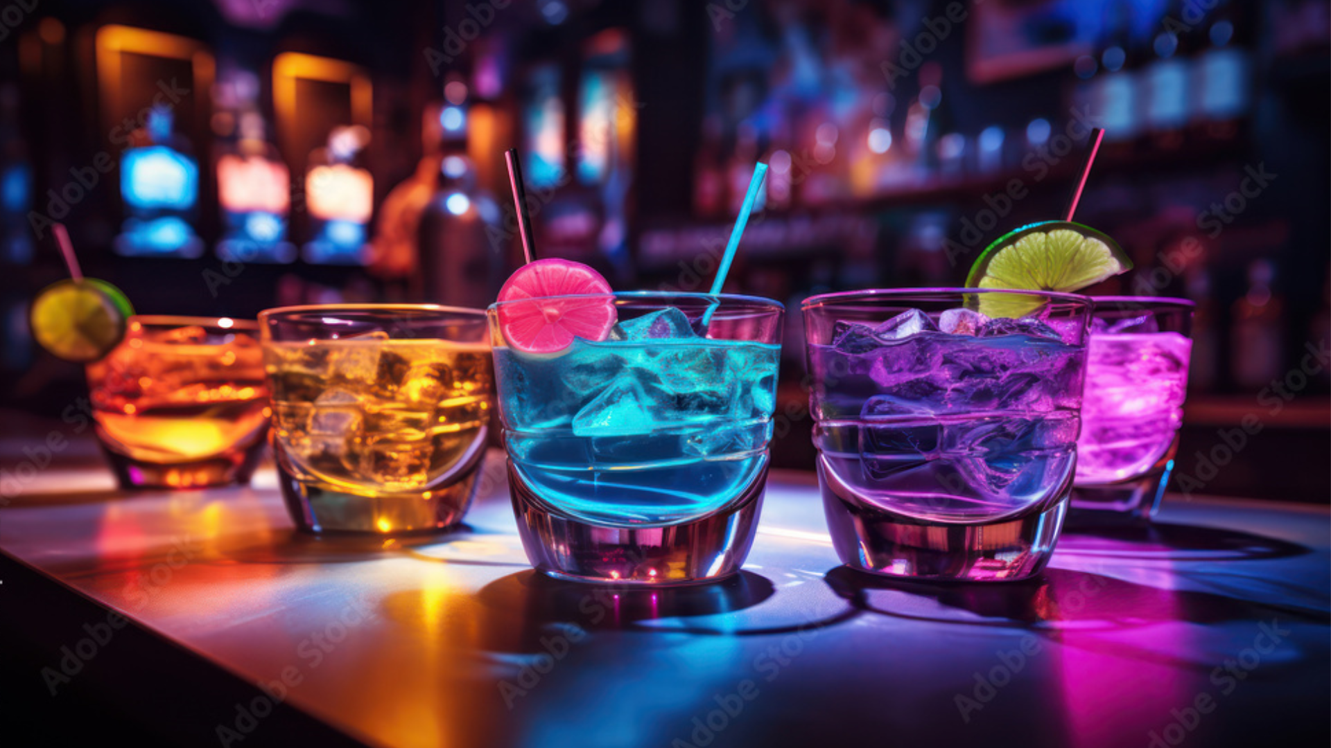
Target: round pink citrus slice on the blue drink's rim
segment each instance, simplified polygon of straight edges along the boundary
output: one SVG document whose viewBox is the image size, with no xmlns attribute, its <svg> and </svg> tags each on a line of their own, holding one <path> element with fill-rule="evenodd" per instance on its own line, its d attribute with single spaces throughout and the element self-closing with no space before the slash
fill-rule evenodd
<svg viewBox="0 0 1331 748">
<path fill-rule="evenodd" d="M 612 293 L 606 278 L 582 262 L 536 260 L 499 289 L 499 329 L 523 353 L 560 351 L 574 338 L 604 341 L 618 317 Z"/>
</svg>

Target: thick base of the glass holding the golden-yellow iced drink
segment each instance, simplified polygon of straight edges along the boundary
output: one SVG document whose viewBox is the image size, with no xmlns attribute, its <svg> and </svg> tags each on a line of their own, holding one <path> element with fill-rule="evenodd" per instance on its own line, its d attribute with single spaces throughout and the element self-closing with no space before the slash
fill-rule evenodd
<svg viewBox="0 0 1331 748">
<path fill-rule="evenodd" d="M 280 449 L 280 447 L 278 447 Z M 371 532 L 397 535 L 438 532 L 462 522 L 480 484 L 484 450 L 475 450 L 473 465 L 459 478 L 439 488 L 409 494 L 353 494 L 322 483 L 302 482 L 277 459 L 277 483 L 286 511 L 303 532 Z"/>
</svg>

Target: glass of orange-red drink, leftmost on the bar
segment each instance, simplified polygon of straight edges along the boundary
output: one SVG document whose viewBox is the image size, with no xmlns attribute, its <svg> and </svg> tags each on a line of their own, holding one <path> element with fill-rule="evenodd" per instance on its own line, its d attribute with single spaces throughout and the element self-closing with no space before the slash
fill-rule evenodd
<svg viewBox="0 0 1331 748">
<path fill-rule="evenodd" d="M 248 483 L 268 431 L 258 326 L 217 317 L 130 317 L 89 363 L 97 437 L 121 487 Z"/>
</svg>

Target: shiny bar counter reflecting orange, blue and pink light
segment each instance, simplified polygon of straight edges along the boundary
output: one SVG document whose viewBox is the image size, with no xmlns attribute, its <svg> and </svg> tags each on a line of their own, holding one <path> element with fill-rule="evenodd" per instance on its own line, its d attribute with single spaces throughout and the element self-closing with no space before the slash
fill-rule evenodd
<svg viewBox="0 0 1331 748">
<path fill-rule="evenodd" d="M 616 591 L 530 570 L 502 467 L 465 528 L 398 539 L 297 534 L 272 468 L 51 467 L 0 551 L 369 745 L 1328 741 L 1324 507 L 1173 496 L 1065 531 L 1036 580 L 920 584 L 839 566 L 816 479 L 773 471 L 740 576 Z"/>
</svg>

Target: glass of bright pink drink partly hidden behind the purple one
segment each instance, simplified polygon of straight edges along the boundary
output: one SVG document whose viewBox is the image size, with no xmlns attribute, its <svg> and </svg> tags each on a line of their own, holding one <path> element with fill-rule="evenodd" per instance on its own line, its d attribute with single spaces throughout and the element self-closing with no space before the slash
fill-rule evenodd
<svg viewBox="0 0 1331 748">
<path fill-rule="evenodd" d="M 1182 298 L 1094 301 L 1071 506 L 1150 518 L 1178 450 L 1194 305 Z"/>
</svg>

